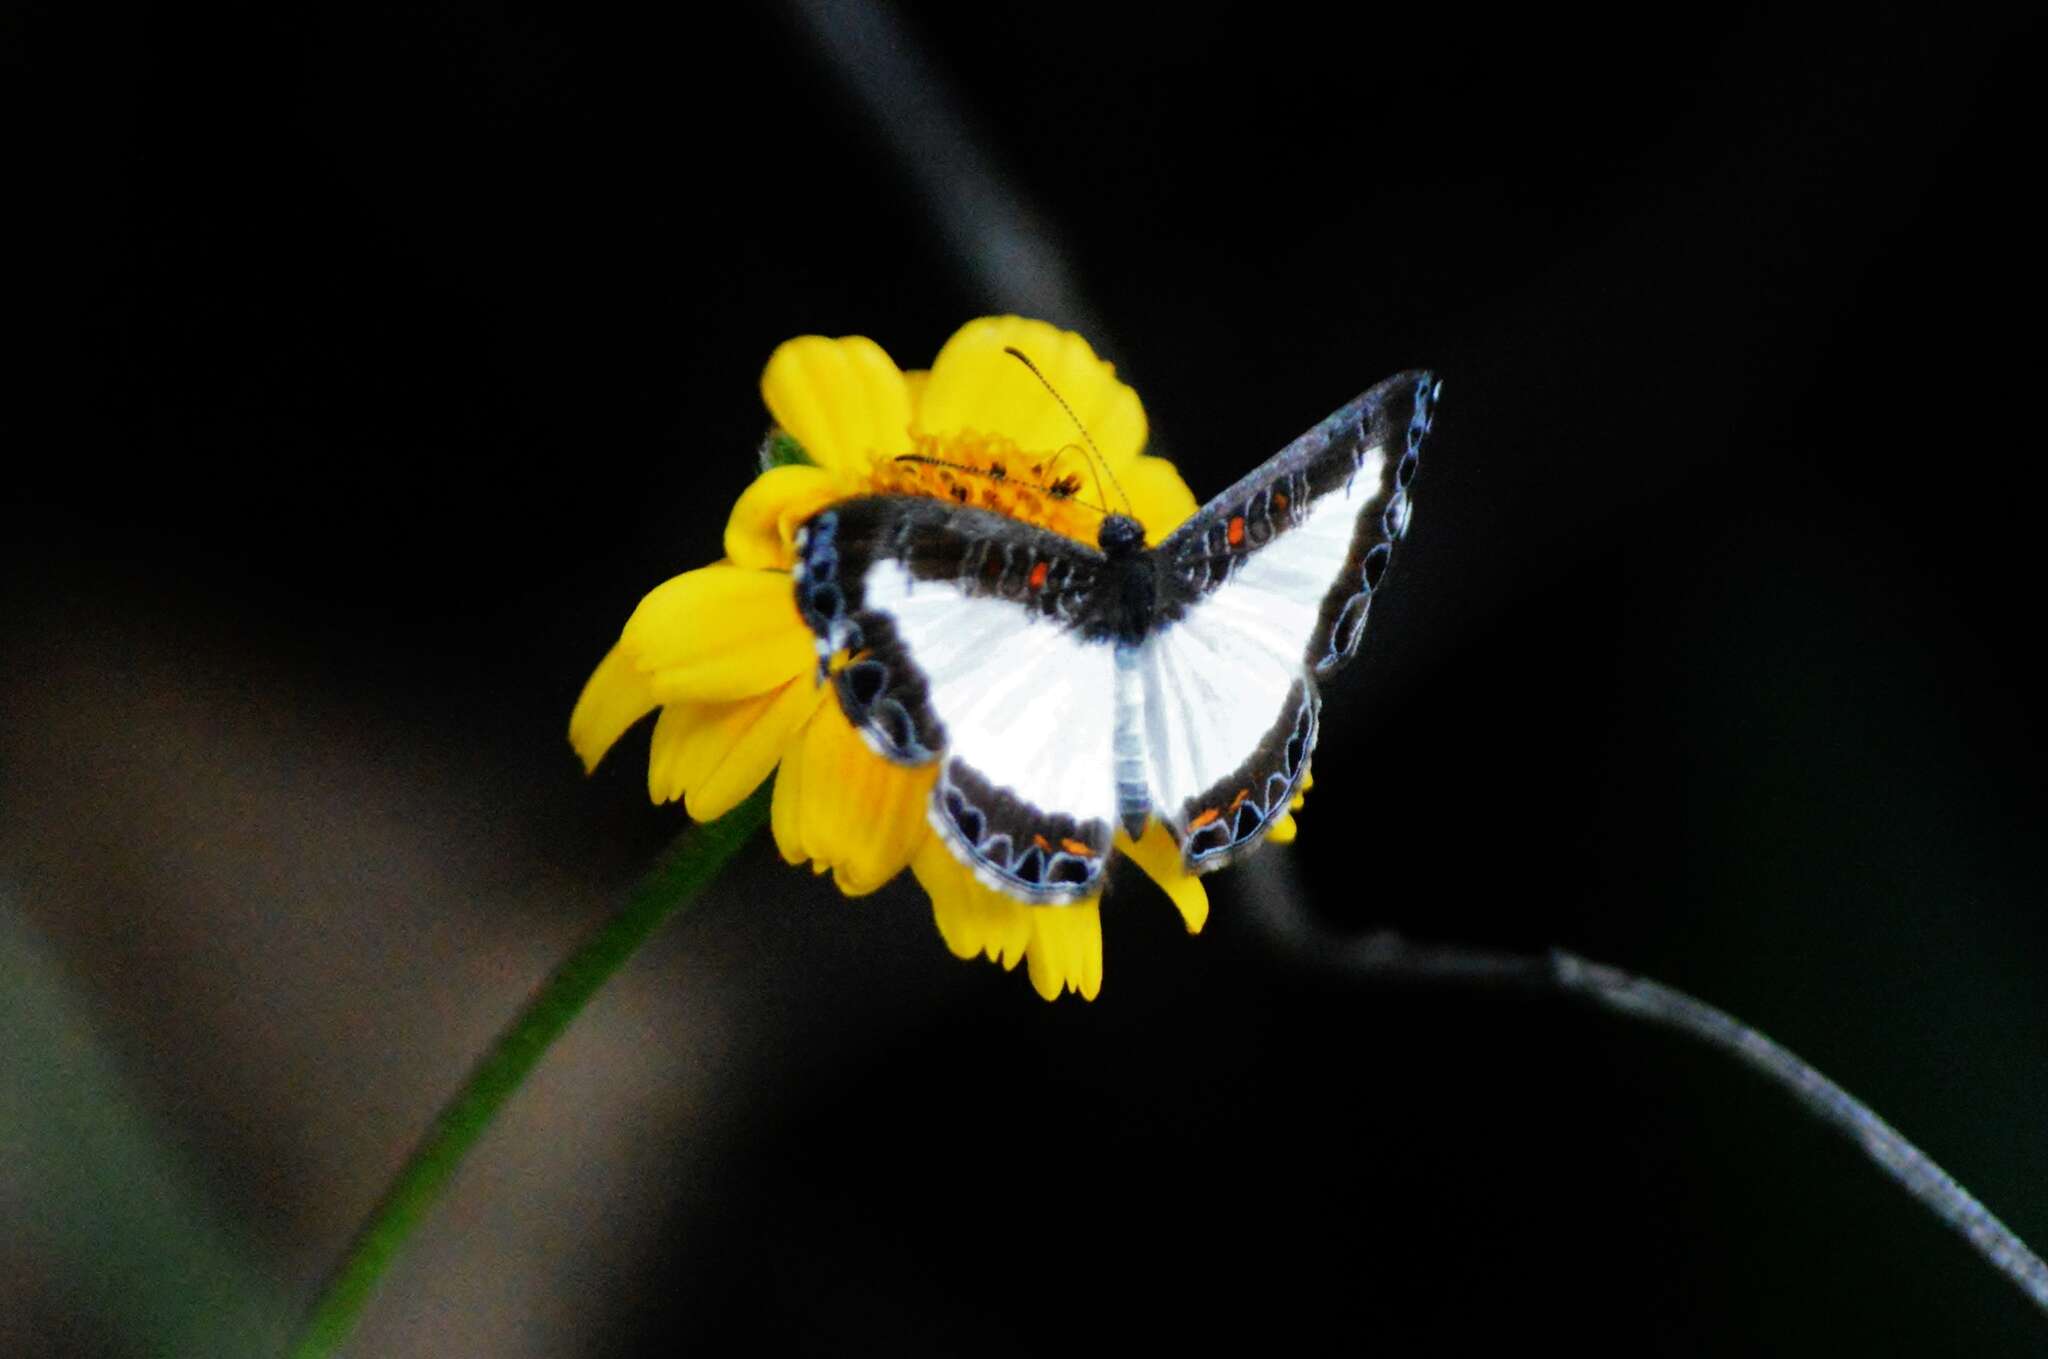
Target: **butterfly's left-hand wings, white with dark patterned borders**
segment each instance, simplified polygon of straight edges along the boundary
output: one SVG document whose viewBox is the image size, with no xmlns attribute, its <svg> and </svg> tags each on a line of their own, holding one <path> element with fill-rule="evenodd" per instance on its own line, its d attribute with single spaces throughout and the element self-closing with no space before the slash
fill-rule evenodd
<svg viewBox="0 0 2048 1359">
<path fill-rule="evenodd" d="M 1108 862 L 1116 653 L 1081 626 L 1102 569 L 936 499 L 842 501 L 799 538 L 797 604 L 848 720 L 887 759 L 940 761 L 934 831 L 1024 901 L 1087 896 Z"/>
</svg>

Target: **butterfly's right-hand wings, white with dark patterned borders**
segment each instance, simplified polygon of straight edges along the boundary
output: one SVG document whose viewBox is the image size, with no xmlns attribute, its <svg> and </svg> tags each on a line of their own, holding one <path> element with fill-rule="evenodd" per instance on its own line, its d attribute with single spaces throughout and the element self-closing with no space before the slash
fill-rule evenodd
<svg viewBox="0 0 2048 1359">
<path fill-rule="evenodd" d="M 1317 677 L 1358 653 L 1436 387 L 1427 372 L 1380 383 L 1159 544 L 1161 624 L 1135 665 L 1153 813 L 1190 868 L 1260 843 L 1300 790 Z"/>
</svg>

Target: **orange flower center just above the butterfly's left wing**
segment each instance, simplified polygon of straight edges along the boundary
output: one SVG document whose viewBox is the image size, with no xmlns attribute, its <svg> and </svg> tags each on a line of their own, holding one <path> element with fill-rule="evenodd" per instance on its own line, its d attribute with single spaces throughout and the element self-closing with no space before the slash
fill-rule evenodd
<svg viewBox="0 0 2048 1359">
<path fill-rule="evenodd" d="M 950 499 L 1081 542 L 1094 542 L 1102 526 L 1102 510 L 1081 499 L 1087 454 L 1079 446 L 1038 454 L 1001 434 L 911 434 L 911 452 L 877 456 L 870 481 L 879 495 Z"/>
</svg>

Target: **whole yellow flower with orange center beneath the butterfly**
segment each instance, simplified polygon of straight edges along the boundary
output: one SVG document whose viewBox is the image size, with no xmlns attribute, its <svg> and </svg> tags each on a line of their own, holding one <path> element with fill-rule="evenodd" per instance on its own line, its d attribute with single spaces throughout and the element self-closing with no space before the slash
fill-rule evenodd
<svg viewBox="0 0 2048 1359">
<path fill-rule="evenodd" d="M 829 872 L 848 896 L 909 868 L 932 896 L 938 931 L 961 958 L 1028 964 L 1053 999 L 1102 987 L 1100 898 L 1034 907 L 983 886 L 926 823 L 936 765 L 872 753 L 817 682 L 811 628 L 791 581 L 797 528 L 854 495 L 934 495 L 975 503 L 1094 542 L 1108 503 L 1073 420 L 1006 354 L 1032 358 L 1096 440 L 1102 461 L 1157 542 L 1194 514 L 1165 458 L 1145 456 L 1145 407 L 1090 344 L 1044 321 L 983 317 L 963 325 L 930 372 L 903 372 L 872 340 L 803 336 L 776 348 L 762 397 L 776 434 L 766 467 L 725 526 L 725 561 L 657 585 L 598 665 L 569 718 L 586 768 L 649 710 L 647 792 L 682 798 L 698 821 L 737 806 L 776 776 L 772 829 L 782 858 Z M 786 436 L 786 440 L 782 438 Z M 795 448 L 791 448 L 791 442 Z M 772 450 L 801 461 L 768 456 Z M 911 454 L 922 461 L 905 461 Z M 1296 800 L 1298 806 L 1298 800 Z M 1292 839 L 1292 817 L 1272 839 Z M 1188 931 L 1208 917 L 1202 884 L 1171 835 L 1151 823 L 1116 845 L 1180 909 Z"/>
</svg>

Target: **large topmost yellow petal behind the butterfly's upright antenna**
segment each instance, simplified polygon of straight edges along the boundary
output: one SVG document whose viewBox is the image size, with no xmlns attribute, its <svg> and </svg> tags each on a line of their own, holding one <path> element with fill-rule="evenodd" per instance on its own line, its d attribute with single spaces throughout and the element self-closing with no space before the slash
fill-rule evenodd
<svg viewBox="0 0 2048 1359">
<path fill-rule="evenodd" d="M 1137 461 L 1145 448 L 1139 393 L 1118 383 L 1116 368 L 1096 358 L 1081 336 L 1016 315 L 981 317 L 954 332 L 932 360 L 932 381 L 918 403 L 918 428 L 926 434 L 1001 434 L 1028 452 L 1077 442 L 1073 420 L 1024 364 L 1004 352 L 1006 346 L 1026 354 L 1065 397 L 1118 475 Z"/>
</svg>

